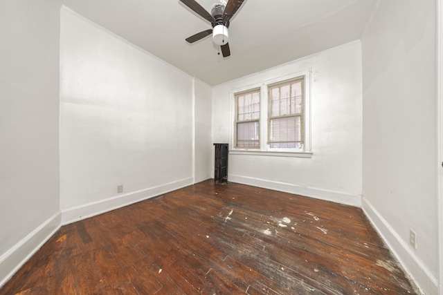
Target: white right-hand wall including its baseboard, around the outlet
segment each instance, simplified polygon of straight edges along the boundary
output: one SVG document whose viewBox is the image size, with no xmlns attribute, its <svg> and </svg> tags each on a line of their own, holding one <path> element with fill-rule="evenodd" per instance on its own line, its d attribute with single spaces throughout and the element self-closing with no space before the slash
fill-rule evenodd
<svg viewBox="0 0 443 295">
<path fill-rule="evenodd" d="M 379 1 L 362 38 L 363 209 L 426 294 L 438 272 L 435 15 L 435 0 Z"/>
</svg>

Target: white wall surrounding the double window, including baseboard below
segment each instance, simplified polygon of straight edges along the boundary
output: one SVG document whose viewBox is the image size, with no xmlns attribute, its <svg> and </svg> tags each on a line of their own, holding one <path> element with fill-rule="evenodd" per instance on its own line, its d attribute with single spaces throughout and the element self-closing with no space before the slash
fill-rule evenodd
<svg viewBox="0 0 443 295">
<path fill-rule="evenodd" d="M 361 44 L 354 41 L 213 88 L 213 139 L 230 142 L 230 91 L 311 70 L 311 158 L 229 155 L 228 178 L 361 204 Z M 264 128 L 264 126 L 262 126 Z"/>
</svg>

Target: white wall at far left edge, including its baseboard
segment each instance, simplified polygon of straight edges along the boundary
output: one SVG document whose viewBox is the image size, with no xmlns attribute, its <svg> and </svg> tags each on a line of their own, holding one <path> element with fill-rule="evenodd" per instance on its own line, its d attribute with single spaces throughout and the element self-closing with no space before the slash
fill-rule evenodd
<svg viewBox="0 0 443 295">
<path fill-rule="evenodd" d="M 0 2 L 0 286 L 60 227 L 60 3 Z"/>
</svg>

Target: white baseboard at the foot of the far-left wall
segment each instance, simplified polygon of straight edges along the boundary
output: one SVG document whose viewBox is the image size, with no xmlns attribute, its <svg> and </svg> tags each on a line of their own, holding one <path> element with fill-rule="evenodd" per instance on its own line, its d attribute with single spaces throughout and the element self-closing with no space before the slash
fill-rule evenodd
<svg viewBox="0 0 443 295">
<path fill-rule="evenodd" d="M 0 287 L 60 229 L 62 213 L 58 211 L 24 239 L 0 256 Z"/>
</svg>

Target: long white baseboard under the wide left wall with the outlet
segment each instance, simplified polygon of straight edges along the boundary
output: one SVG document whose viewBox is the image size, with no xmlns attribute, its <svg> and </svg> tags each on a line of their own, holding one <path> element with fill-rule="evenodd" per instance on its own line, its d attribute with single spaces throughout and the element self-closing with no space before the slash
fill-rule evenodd
<svg viewBox="0 0 443 295">
<path fill-rule="evenodd" d="M 100 200 L 98 202 L 91 202 L 83 204 L 82 206 L 67 209 L 62 211 L 62 225 L 67 225 L 71 222 L 89 218 L 99 215 L 114 209 L 125 207 L 129 204 L 134 204 L 152 197 L 160 196 L 163 193 L 168 193 L 182 187 L 187 187 L 192 184 L 192 178 L 185 178 L 166 184 L 161 184 L 155 187 L 142 189 L 140 191 L 132 191 L 130 193 L 119 194 L 112 198 Z"/>
</svg>

